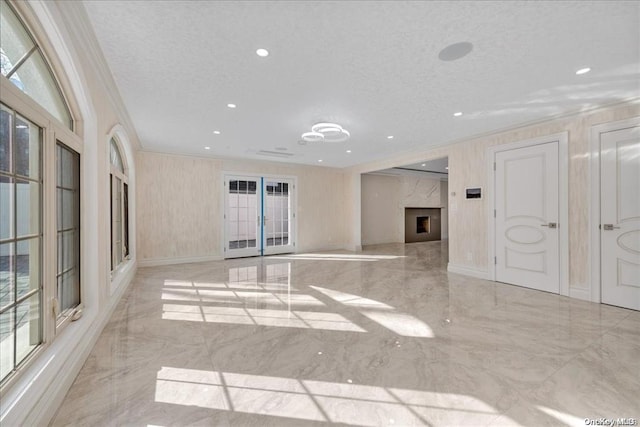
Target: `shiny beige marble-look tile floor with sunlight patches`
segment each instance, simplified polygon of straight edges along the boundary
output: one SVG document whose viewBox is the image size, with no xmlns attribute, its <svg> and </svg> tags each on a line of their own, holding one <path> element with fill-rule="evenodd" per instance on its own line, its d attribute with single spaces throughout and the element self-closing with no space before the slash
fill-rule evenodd
<svg viewBox="0 0 640 427">
<path fill-rule="evenodd" d="M 141 268 L 53 425 L 583 426 L 639 390 L 639 312 L 430 242 Z"/>
</svg>

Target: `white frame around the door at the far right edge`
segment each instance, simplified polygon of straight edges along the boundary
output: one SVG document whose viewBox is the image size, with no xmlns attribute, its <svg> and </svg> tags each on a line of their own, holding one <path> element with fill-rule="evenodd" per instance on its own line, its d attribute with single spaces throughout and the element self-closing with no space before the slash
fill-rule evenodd
<svg viewBox="0 0 640 427">
<path fill-rule="evenodd" d="M 602 302 L 600 273 L 600 137 L 603 133 L 640 126 L 640 117 L 604 123 L 591 127 L 589 140 L 589 286 L 585 295 L 592 302 Z"/>
</svg>

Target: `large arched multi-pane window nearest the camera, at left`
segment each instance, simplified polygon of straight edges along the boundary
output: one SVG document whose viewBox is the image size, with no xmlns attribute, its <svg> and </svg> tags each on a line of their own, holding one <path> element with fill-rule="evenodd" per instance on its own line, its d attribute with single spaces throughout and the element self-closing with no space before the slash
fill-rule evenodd
<svg viewBox="0 0 640 427">
<path fill-rule="evenodd" d="M 5 0 L 0 65 L 1 391 L 81 313 L 82 141 L 44 52 Z"/>
</svg>

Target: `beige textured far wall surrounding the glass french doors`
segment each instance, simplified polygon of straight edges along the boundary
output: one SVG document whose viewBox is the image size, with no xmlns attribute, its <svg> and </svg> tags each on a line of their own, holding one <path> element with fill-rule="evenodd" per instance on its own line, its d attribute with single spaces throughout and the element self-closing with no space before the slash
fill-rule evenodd
<svg viewBox="0 0 640 427">
<path fill-rule="evenodd" d="M 223 174 L 297 179 L 297 251 L 347 245 L 345 174 L 338 169 L 138 152 L 138 259 L 223 256 Z"/>
</svg>

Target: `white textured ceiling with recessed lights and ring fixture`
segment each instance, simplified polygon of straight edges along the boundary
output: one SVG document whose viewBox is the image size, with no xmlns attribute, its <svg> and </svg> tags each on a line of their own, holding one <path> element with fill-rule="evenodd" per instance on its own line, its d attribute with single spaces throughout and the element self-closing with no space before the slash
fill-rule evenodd
<svg viewBox="0 0 640 427">
<path fill-rule="evenodd" d="M 145 150 L 344 167 L 640 96 L 639 2 L 84 6 Z M 351 139 L 299 145 L 320 121 Z"/>
</svg>

